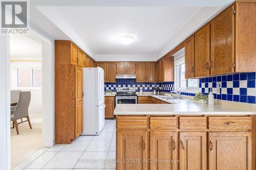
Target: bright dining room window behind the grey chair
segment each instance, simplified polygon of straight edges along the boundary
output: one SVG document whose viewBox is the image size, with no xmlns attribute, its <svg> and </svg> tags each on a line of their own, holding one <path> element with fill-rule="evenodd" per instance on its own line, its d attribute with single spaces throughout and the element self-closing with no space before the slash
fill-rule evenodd
<svg viewBox="0 0 256 170">
<path fill-rule="evenodd" d="M 14 70 L 14 87 L 17 89 L 40 89 L 42 86 L 42 69 L 16 67 Z"/>
</svg>

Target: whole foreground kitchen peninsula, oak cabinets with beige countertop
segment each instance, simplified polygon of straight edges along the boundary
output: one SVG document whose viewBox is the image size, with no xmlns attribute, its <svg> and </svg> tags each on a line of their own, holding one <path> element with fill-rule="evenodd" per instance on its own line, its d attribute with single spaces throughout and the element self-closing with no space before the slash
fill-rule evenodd
<svg viewBox="0 0 256 170">
<path fill-rule="evenodd" d="M 117 169 L 255 169 L 255 110 L 169 103 L 116 106 Z"/>
</svg>

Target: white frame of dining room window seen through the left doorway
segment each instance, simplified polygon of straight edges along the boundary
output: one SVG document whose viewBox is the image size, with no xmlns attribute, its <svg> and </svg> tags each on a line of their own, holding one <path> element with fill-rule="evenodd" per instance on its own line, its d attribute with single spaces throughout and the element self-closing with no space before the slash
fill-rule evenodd
<svg viewBox="0 0 256 170">
<path fill-rule="evenodd" d="M 32 85 L 34 85 L 34 74 L 33 69 L 42 69 L 41 66 L 27 66 L 27 65 L 14 65 L 12 66 L 12 89 L 14 90 L 42 90 L 42 87 L 18 87 L 18 74 L 16 69 L 25 68 L 32 69 Z M 42 80 L 41 80 L 42 81 Z"/>
</svg>

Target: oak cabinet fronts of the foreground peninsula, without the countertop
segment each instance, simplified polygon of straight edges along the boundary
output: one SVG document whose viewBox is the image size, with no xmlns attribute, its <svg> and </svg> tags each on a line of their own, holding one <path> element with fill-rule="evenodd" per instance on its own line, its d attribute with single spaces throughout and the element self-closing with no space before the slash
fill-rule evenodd
<svg viewBox="0 0 256 170">
<path fill-rule="evenodd" d="M 256 129 L 251 124 L 248 125 L 248 120 L 252 120 L 254 116 L 235 116 L 245 123 L 244 129 L 240 128 L 241 123 L 233 121 L 233 124 L 223 122 L 219 129 L 211 130 L 209 125 L 212 124 L 213 117 L 234 119 L 234 116 L 225 115 L 117 115 L 116 168 L 118 170 L 253 169 L 255 167 L 253 148 L 256 143 L 252 142 L 252 137 Z M 191 129 L 184 128 L 186 123 L 191 127 L 189 122 L 192 120 L 195 125 L 198 121 L 204 120 L 206 125 L 202 126 L 200 123 L 200 126 Z M 182 126 L 178 126 L 179 124 Z"/>
</svg>

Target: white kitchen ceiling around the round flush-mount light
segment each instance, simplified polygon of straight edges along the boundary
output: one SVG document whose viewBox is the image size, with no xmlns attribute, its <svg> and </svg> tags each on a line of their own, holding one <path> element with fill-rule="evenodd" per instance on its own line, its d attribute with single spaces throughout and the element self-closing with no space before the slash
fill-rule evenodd
<svg viewBox="0 0 256 170">
<path fill-rule="evenodd" d="M 71 39 L 98 61 L 154 61 L 231 2 L 33 0 L 31 22 L 54 39 Z M 123 34 L 135 42 L 120 44 Z"/>
</svg>

